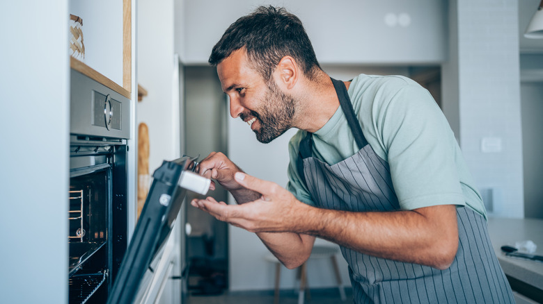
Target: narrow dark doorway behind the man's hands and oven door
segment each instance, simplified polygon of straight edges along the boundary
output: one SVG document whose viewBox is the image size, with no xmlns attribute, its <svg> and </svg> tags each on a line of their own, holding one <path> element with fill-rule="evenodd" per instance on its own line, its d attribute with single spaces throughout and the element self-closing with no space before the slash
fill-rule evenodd
<svg viewBox="0 0 543 304">
<path fill-rule="evenodd" d="M 186 153 L 203 160 L 211 152 L 227 153 L 228 108 L 213 67 L 184 67 Z M 198 194 L 187 195 L 187 202 Z M 228 201 L 228 192 L 217 189 L 206 196 Z M 188 289 L 192 296 L 221 294 L 228 289 L 228 225 L 206 212 L 184 205 L 187 231 L 185 259 Z"/>
</svg>

